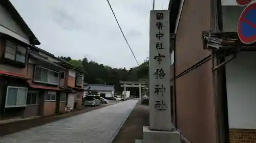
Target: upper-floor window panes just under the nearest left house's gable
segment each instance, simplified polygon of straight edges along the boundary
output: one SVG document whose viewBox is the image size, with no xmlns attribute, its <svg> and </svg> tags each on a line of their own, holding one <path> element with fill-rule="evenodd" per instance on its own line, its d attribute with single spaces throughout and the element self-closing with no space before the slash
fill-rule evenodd
<svg viewBox="0 0 256 143">
<path fill-rule="evenodd" d="M 5 58 L 13 61 L 25 63 L 27 48 L 17 45 L 11 41 L 6 41 Z"/>
</svg>

